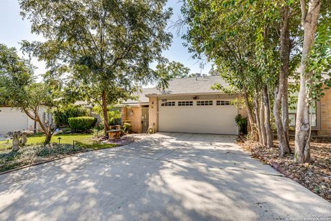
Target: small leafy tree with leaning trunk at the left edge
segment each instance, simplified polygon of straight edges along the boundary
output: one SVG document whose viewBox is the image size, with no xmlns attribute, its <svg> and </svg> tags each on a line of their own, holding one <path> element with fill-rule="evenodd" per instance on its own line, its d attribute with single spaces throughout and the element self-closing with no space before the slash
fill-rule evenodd
<svg viewBox="0 0 331 221">
<path fill-rule="evenodd" d="M 55 83 L 55 84 L 54 84 Z M 0 100 L 12 108 L 23 111 L 37 122 L 45 133 L 48 144 L 52 138 L 52 123 L 43 124 L 40 106 L 52 108 L 58 105 L 59 84 L 54 81 L 36 83 L 29 61 L 21 59 L 15 48 L 0 44 Z"/>
</svg>

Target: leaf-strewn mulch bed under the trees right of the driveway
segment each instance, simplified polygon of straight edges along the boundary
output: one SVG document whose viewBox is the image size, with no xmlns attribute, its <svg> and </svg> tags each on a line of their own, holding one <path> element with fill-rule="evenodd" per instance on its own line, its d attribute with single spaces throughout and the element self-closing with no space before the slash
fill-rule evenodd
<svg viewBox="0 0 331 221">
<path fill-rule="evenodd" d="M 286 177 L 298 182 L 331 202 L 331 138 L 313 138 L 311 140 L 311 162 L 294 163 L 294 140 L 290 140 L 292 153 L 279 157 L 279 143 L 274 140 L 274 148 L 263 148 L 258 142 L 239 142 L 252 156 L 270 164 Z"/>
</svg>

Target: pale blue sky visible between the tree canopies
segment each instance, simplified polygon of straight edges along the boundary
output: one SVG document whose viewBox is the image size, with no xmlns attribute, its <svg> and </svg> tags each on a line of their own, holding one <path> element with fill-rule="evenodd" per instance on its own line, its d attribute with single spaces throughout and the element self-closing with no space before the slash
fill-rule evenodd
<svg viewBox="0 0 331 221">
<path fill-rule="evenodd" d="M 188 52 L 188 48 L 183 46 L 183 39 L 177 35 L 177 28 L 172 27 L 172 24 L 178 20 L 181 15 L 181 2 L 179 0 L 168 0 L 167 8 L 173 9 L 173 15 L 168 23 L 168 32 L 172 32 L 172 46 L 169 50 L 163 51 L 163 56 L 170 61 L 178 61 L 190 68 L 191 73 L 200 73 L 201 61 L 192 59 L 192 55 Z M 17 0 L 0 0 L 0 43 L 10 47 L 16 47 L 19 50 L 19 41 L 41 41 L 43 38 L 34 35 L 30 31 L 30 22 L 23 20 L 19 15 L 19 3 Z M 22 55 L 20 53 L 20 55 Z M 32 63 L 37 67 L 36 75 L 41 75 L 45 72 L 45 64 L 43 61 L 33 59 Z M 208 74 L 211 64 L 205 63 L 203 74 Z"/>
</svg>

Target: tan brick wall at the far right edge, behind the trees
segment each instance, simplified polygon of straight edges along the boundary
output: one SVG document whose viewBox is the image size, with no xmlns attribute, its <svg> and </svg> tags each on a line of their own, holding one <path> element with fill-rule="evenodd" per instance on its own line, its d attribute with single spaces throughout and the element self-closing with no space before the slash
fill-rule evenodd
<svg viewBox="0 0 331 221">
<path fill-rule="evenodd" d="M 331 90 L 325 90 L 321 99 L 321 130 L 318 135 L 331 136 Z"/>
</svg>

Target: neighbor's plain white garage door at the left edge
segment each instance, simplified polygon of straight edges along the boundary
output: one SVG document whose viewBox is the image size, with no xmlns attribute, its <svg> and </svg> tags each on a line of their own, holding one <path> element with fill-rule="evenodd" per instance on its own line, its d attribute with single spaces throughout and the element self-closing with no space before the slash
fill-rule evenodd
<svg viewBox="0 0 331 221">
<path fill-rule="evenodd" d="M 0 133 L 28 129 L 25 113 L 12 108 L 0 108 Z"/>
</svg>

